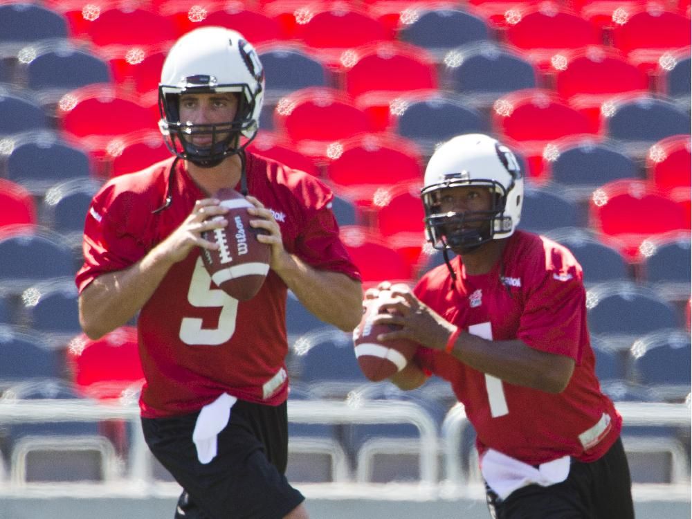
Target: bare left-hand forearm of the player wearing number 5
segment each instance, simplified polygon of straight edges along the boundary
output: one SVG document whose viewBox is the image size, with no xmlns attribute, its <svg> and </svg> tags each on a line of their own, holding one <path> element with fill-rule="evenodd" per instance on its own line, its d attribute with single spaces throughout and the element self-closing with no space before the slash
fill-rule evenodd
<svg viewBox="0 0 692 519">
<path fill-rule="evenodd" d="M 93 280 L 79 298 L 84 333 L 95 339 L 125 325 L 156 291 L 171 265 L 154 249 L 128 268 Z"/>
</svg>

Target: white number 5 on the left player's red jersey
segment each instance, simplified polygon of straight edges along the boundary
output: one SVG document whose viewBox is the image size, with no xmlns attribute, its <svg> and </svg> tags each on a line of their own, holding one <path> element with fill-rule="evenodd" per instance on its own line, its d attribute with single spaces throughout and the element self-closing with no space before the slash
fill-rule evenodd
<svg viewBox="0 0 692 519">
<path fill-rule="evenodd" d="M 183 317 L 180 323 L 180 340 L 189 345 L 218 346 L 226 343 L 235 332 L 235 318 L 238 313 L 238 300 L 220 289 L 212 289 L 212 278 L 204 268 L 202 258 L 197 258 L 194 266 L 188 302 L 197 308 L 221 308 L 219 325 L 216 328 L 203 328 L 202 320 L 196 317 Z"/>
</svg>

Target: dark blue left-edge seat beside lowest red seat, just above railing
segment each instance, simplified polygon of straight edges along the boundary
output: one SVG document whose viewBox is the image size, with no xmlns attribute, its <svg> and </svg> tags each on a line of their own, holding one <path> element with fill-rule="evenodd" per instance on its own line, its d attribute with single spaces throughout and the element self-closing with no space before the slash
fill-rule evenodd
<svg viewBox="0 0 692 519">
<path fill-rule="evenodd" d="M 58 349 L 48 347 L 44 336 L 28 329 L 0 327 L 0 388 L 31 379 L 60 379 L 64 363 Z"/>
</svg>

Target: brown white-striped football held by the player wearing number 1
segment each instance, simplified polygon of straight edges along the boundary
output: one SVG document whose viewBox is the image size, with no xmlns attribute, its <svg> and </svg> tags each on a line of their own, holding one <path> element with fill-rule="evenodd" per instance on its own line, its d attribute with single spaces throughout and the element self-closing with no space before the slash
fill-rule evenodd
<svg viewBox="0 0 692 519">
<path fill-rule="evenodd" d="M 377 298 L 365 300 L 365 311 L 360 324 L 353 331 L 356 358 L 361 371 L 373 382 L 388 379 L 403 370 L 416 352 L 417 343 L 407 339 L 377 340 L 397 327 L 375 324 L 374 318 L 381 312 L 380 304 L 391 298 L 390 291 L 380 291 Z"/>
</svg>

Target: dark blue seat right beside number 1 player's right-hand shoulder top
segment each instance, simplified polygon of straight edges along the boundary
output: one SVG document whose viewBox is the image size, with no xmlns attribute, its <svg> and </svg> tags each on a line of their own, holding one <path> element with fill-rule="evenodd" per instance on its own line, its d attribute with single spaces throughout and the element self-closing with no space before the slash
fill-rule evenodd
<svg viewBox="0 0 692 519">
<path fill-rule="evenodd" d="M 618 249 L 602 243 L 585 228 L 557 228 L 545 235 L 572 251 L 583 268 L 586 286 L 632 280 L 630 267 Z"/>
</svg>

